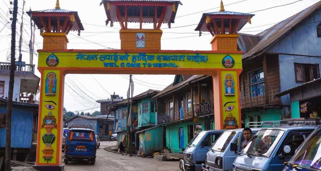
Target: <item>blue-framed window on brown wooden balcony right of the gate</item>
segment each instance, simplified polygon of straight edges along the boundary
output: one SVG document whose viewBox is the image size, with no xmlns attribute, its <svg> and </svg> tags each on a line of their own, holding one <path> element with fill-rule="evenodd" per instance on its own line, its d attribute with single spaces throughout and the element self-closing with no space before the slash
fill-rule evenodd
<svg viewBox="0 0 321 171">
<path fill-rule="evenodd" d="M 250 97 L 262 96 L 264 92 L 264 73 L 263 69 L 251 71 L 249 76 Z"/>
</svg>

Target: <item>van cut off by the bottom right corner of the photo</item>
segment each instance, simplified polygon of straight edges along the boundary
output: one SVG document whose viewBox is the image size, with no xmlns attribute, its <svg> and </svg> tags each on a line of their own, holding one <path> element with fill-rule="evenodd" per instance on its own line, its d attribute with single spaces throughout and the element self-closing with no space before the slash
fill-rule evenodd
<svg viewBox="0 0 321 171">
<path fill-rule="evenodd" d="M 294 150 L 291 146 L 286 149 Z M 291 153 L 291 150 L 284 153 Z M 321 126 L 318 126 L 295 151 L 289 162 L 284 163 L 283 171 L 321 170 Z"/>
</svg>

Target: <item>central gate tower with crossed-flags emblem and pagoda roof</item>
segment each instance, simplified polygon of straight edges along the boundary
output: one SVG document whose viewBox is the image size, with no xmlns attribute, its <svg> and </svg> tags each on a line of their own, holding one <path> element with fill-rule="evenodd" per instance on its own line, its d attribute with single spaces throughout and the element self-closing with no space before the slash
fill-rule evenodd
<svg viewBox="0 0 321 171">
<path fill-rule="evenodd" d="M 103 0 L 107 20 L 110 26 L 117 21 L 120 24 L 122 50 L 160 50 L 162 23 L 174 23 L 180 1 L 174 0 Z M 128 22 L 139 23 L 139 29 L 128 28 Z M 143 23 L 153 23 L 153 29 L 143 29 Z"/>
</svg>

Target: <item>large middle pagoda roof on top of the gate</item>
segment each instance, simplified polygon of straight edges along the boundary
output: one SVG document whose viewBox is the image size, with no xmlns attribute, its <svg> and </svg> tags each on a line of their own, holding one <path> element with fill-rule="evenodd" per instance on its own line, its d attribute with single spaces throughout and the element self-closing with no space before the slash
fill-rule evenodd
<svg viewBox="0 0 321 171">
<path fill-rule="evenodd" d="M 127 22 L 152 23 L 154 22 L 156 7 L 156 21 L 168 23 L 169 26 L 170 23 L 174 23 L 178 5 L 182 5 L 180 1 L 176 0 L 102 0 L 100 5 L 101 4 L 104 4 L 105 7 L 107 15 L 106 23 L 108 23 L 108 21 L 111 21 L 111 23 L 115 21 L 119 22 L 117 10 L 121 15 L 122 21 L 125 21 L 125 7 L 127 9 Z M 143 7 L 142 21 L 140 21 L 140 7 Z M 163 18 L 163 20 L 161 20 L 161 18 Z"/>
</svg>

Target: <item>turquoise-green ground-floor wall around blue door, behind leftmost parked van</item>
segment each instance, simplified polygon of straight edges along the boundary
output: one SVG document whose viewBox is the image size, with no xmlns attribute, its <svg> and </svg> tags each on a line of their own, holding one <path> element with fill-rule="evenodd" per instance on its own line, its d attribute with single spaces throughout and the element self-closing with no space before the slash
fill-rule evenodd
<svg viewBox="0 0 321 171">
<path fill-rule="evenodd" d="M 213 121 L 213 119 L 211 119 Z M 179 149 L 179 138 L 178 138 L 178 129 L 183 127 L 184 130 L 184 147 L 186 148 L 186 145 L 188 142 L 188 125 L 196 125 L 200 124 L 202 125 L 202 131 L 205 130 L 204 125 L 204 119 L 199 119 L 198 122 L 183 122 L 183 123 L 175 123 L 166 125 L 166 147 L 169 149 Z M 213 125 L 214 128 L 214 125 Z"/>
</svg>

